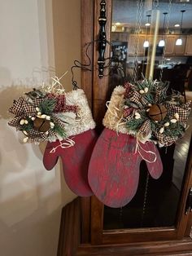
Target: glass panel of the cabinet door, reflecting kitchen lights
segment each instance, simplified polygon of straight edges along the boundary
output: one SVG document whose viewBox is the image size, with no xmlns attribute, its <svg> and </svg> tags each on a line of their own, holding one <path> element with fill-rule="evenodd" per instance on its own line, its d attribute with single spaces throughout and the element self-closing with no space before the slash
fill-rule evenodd
<svg viewBox="0 0 192 256">
<path fill-rule="evenodd" d="M 153 78 L 168 81 L 168 90 L 180 91 L 183 100 L 185 97 L 192 99 L 192 57 L 185 54 L 185 49 L 178 50 L 176 45 L 182 32 L 182 41 L 189 47 L 187 39 L 191 38 L 189 33 L 192 3 L 158 2 L 113 0 L 111 42 L 121 72 L 114 71 L 112 74 L 110 89 L 112 91 L 115 86 L 123 85 L 125 81 L 132 82 L 133 76 L 136 76 L 136 80 L 145 76 L 149 52 L 148 47 L 143 45 L 145 41 L 149 41 L 155 42 L 156 51 Z M 154 9 L 159 11 L 159 32 L 156 41 L 151 34 L 150 25 L 147 27 L 147 23 L 151 24 L 151 10 Z M 184 9 L 181 31 L 181 27 L 175 27 L 175 24 L 181 25 L 181 10 Z M 159 41 L 163 39 L 165 46 L 159 46 Z M 192 45 L 187 51 L 192 51 Z M 190 147 L 192 114 L 188 124 L 190 126 L 185 136 L 178 139 L 176 144 L 159 148 L 164 166 L 164 172 L 159 179 L 151 178 L 145 161 L 142 161 L 137 193 L 132 201 L 117 209 L 104 206 L 103 229 L 176 226 L 177 210 L 185 180 L 185 163 Z"/>
</svg>

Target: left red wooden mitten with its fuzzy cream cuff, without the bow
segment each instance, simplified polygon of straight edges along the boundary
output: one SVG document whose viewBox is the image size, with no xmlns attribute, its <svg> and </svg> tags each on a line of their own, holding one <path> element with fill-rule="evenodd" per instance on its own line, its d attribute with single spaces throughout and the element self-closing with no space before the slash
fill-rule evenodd
<svg viewBox="0 0 192 256">
<path fill-rule="evenodd" d="M 47 143 L 43 164 L 46 170 L 51 170 L 61 157 L 68 187 L 78 196 L 91 196 L 93 192 L 88 183 L 88 166 L 97 139 L 95 123 L 83 90 L 68 92 L 66 103 L 78 106 L 76 114 L 62 114 L 68 138 Z"/>
</svg>

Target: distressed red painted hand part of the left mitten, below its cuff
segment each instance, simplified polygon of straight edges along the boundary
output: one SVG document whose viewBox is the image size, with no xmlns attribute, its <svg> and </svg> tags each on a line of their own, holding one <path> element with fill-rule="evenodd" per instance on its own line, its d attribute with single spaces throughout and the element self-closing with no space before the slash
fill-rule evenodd
<svg viewBox="0 0 192 256">
<path fill-rule="evenodd" d="M 87 130 L 80 135 L 69 137 L 75 141 L 71 148 L 52 148 L 59 146 L 59 140 L 48 142 L 43 156 L 43 164 L 46 170 L 51 170 L 61 157 L 63 174 L 68 187 L 78 196 L 91 196 L 93 192 L 88 183 L 88 166 L 91 152 L 93 151 L 97 135 L 94 130 Z"/>
</svg>

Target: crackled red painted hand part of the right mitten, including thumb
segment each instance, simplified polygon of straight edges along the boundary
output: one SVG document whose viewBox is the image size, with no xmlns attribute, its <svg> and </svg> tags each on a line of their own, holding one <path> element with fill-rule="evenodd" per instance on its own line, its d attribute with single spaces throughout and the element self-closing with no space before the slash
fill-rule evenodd
<svg viewBox="0 0 192 256">
<path fill-rule="evenodd" d="M 153 143 L 141 144 L 140 152 L 148 170 L 154 179 L 163 172 L 159 152 Z M 95 196 L 105 205 L 122 207 L 132 200 L 137 192 L 139 166 L 142 157 L 135 152 L 136 139 L 131 135 L 117 135 L 115 131 L 105 128 L 94 147 L 89 162 L 89 185 Z M 155 155 L 146 152 L 155 152 Z"/>
</svg>

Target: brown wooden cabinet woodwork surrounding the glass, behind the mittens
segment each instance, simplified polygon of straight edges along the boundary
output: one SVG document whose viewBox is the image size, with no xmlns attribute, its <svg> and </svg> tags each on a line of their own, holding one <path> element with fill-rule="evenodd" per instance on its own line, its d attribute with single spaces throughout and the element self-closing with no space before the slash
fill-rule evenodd
<svg viewBox="0 0 192 256">
<path fill-rule="evenodd" d="M 111 2 L 107 2 L 107 20 L 111 20 Z M 99 0 L 81 0 L 81 46 L 91 42 L 98 34 L 98 6 Z M 110 8 L 109 8 L 110 7 Z M 97 15 L 95 15 L 95 13 Z M 111 22 L 111 21 L 110 21 Z M 94 26 L 95 24 L 95 26 Z M 93 29 L 94 28 L 94 29 Z M 109 35 L 110 26 L 107 26 Z M 109 51 L 109 50 L 107 50 Z M 89 57 L 92 63 L 97 60 L 96 44 L 90 46 Z M 85 51 L 82 51 L 82 60 L 85 60 Z M 107 97 L 107 78 L 99 79 L 98 72 L 94 69 L 93 73 L 82 71 L 81 88 L 89 99 L 89 106 L 92 108 L 94 118 L 100 122 L 103 118 L 101 115 L 105 108 Z M 190 152 L 192 149 L 190 148 Z M 186 178 L 188 183 L 183 191 L 182 201 L 188 189 L 192 187 L 191 177 L 192 157 L 188 159 L 188 170 Z M 184 203 L 181 206 L 180 219 L 184 213 Z M 116 234 L 103 233 L 103 204 L 95 196 L 81 197 L 72 201 L 63 208 L 61 216 L 61 225 L 59 232 L 58 256 L 63 255 L 191 255 L 192 241 L 190 239 L 190 227 L 192 225 L 192 214 L 185 216 L 186 228 L 180 228 L 180 234 L 185 237 L 176 237 L 172 241 L 145 241 L 134 242 L 127 240 L 126 230 Z M 146 232 L 146 231 L 145 231 Z M 130 234 L 130 233 L 129 233 Z M 128 242 L 129 241 L 129 242 Z M 111 242 L 113 244 L 111 244 Z"/>
</svg>

